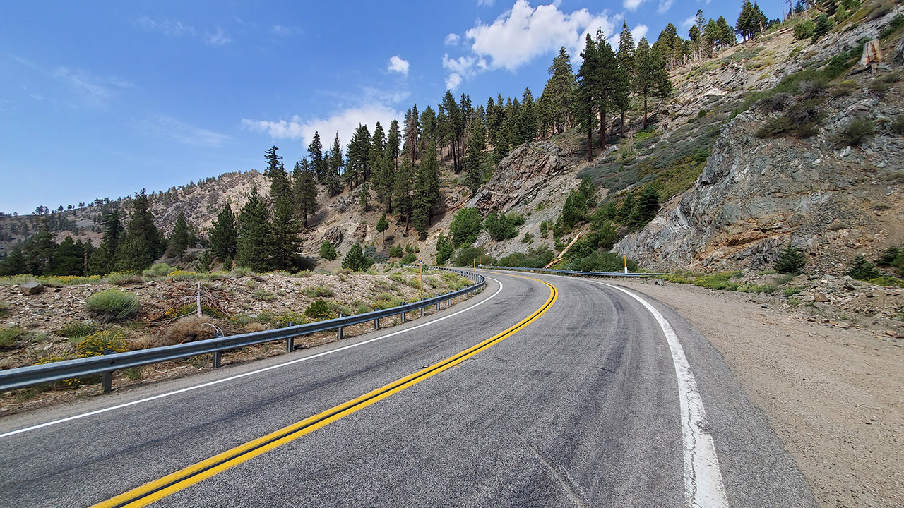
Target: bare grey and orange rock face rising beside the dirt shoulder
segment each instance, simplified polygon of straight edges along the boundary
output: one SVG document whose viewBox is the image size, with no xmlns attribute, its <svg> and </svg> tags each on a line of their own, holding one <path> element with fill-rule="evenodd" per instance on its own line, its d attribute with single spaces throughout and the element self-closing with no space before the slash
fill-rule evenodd
<svg viewBox="0 0 904 508">
<path fill-rule="evenodd" d="M 838 104 L 814 138 L 759 139 L 755 111 L 723 127 L 691 190 L 665 204 L 644 230 L 620 240 L 619 253 L 646 268 L 760 269 L 790 241 L 819 268 L 839 269 L 865 243 L 894 228 L 900 167 L 898 136 L 861 147 L 828 141 L 852 118 L 887 118 L 878 101 Z M 864 174 L 869 168 L 869 174 Z M 885 215 L 871 210 L 883 203 Z M 884 204 L 888 203 L 888 204 Z"/>
</svg>

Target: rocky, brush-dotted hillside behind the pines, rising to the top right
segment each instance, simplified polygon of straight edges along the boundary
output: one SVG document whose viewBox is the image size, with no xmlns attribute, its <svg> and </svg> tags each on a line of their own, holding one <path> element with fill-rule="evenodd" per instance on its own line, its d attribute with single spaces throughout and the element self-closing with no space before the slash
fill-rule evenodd
<svg viewBox="0 0 904 508">
<path fill-rule="evenodd" d="M 383 207 L 373 190 L 364 212 L 358 188 L 330 196 L 318 185 L 317 212 L 301 233 L 298 254 L 316 268 L 334 269 L 353 243 L 361 242 L 374 247 L 375 259 L 388 259 L 393 245 L 408 245 L 420 259 L 434 262 L 439 236 L 449 234 L 455 213 L 476 207 L 484 217 L 510 214 L 519 225 L 502 239 L 481 230 L 474 250 L 459 259 L 467 264 L 478 255 L 489 262 L 529 249 L 560 256 L 576 236 L 592 239 L 601 221 L 611 221 L 617 228 L 614 249 L 647 270 L 762 270 L 790 242 L 805 249 L 809 271 L 843 275 L 855 255 L 874 259 L 882 249 L 904 245 L 898 192 L 900 28 L 883 33 L 884 61 L 852 73 L 863 42 L 879 38 L 900 11 L 862 5 L 817 42 L 796 40 L 796 22 L 789 21 L 712 58 L 676 65 L 670 71 L 672 93 L 664 101 L 651 99 L 648 127 L 636 98 L 624 127 L 617 115 L 609 115 L 604 152 L 594 131 L 594 156 L 588 160 L 579 127 L 515 146 L 473 195 L 466 174 L 453 170 L 449 146 L 443 146 L 440 197 L 423 240 L 393 213 L 389 229 L 379 233 Z M 868 132 L 854 136 L 854 124 Z M 205 238 L 223 205 L 229 202 L 238 212 L 252 184 L 268 195 L 264 167 L 262 160 L 261 173 L 222 174 L 149 194 L 157 227 L 169 235 L 184 212 L 190 228 Z M 598 186 L 585 221 L 553 230 L 585 177 Z M 663 203 L 652 221 L 617 218 L 626 196 L 636 199 L 647 186 Z M 68 211 L 0 217 L 0 249 L 8 253 L 44 220 L 56 241 L 72 235 L 97 247 L 101 211 L 128 212 L 130 202 L 97 200 Z M 334 243 L 339 259 L 319 258 L 325 240 Z M 202 245 L 195 247 L 181 263 L 184 268 L 194 267 Z M 578 247 L 586 254 L 587 245 Z M 452 262 L 461 252 L 455 250 Z M 575 263 L 574 256 L 562 263 Z"/>
</svg>

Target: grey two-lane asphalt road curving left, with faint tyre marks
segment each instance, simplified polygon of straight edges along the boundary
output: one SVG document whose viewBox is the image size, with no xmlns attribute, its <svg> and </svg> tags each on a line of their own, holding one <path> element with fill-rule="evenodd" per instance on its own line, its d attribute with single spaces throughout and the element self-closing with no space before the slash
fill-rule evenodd
<svg viewBox="0 0 904 508">
<path fill-rule="evenodd" d="M 537 279 L 555 302 L 502 342 L 154 505 L 682 507 L 700 499 L 688 457 L 706 437 L 725 503 L 701 506 L 815 506 L 762 412 L 680 315 L 644 296 L 681 344 L 701 425 L 684 423 L 663 328 L 617 281 L 487 276 L 479 296 L 406 325 L 0 419 L 3 434 L 309 358 L 0 437 L 0 506 L 101 503 L 355 400 L 532 315 L 551 296 Z"/>
</svg>

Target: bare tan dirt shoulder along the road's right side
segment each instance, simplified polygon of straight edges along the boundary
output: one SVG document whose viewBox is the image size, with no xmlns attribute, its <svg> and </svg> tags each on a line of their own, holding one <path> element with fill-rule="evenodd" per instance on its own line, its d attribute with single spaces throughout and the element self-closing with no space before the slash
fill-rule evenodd
<svg viewBox="0 0 904 508">
<path fill-rule="evenodd" d="M 904 506 L 904 341 L 808 321 L 757 295 L 620 284 L 671 306 L 715 345 L 820 504 Z"/>
</svg>

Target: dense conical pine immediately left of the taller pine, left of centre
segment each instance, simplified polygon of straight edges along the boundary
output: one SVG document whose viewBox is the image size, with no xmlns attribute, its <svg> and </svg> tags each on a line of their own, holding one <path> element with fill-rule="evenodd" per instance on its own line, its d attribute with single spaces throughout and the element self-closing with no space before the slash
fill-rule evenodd
<svg viewBox="0 0 904 508">
<path fill-rule="evenodd" d="M 258 193 L 258 187 L 251 187 L 248 202 L 239 213 L 239 238 L 235 262 L 255 271 L 270 269 L 269 260 L 273 254 L 270 212 L 267 203 Z"/>
</svg>

